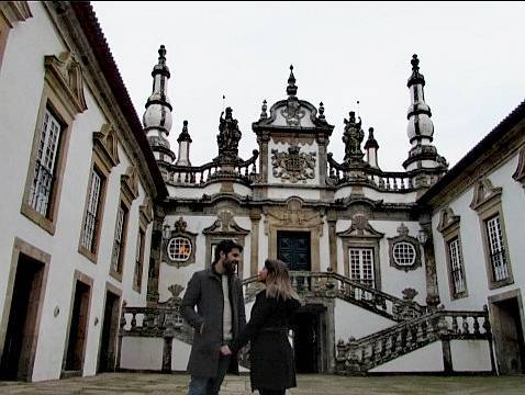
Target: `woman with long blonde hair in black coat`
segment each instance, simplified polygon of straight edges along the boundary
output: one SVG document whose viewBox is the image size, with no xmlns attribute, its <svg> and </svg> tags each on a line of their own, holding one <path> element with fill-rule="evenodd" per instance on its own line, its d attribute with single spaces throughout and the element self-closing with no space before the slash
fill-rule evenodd
<svg viewBox="0 0 525 395">
<path fill-rule="evenodd" d="M 257 279 L 266 289 L 257 294 L 245 330 L 228 346 L 223 346 L 221 352 L 236 354 L 250 341 L 252 391 L 258 390 L 260 395 L 283 395 L 287 388 L 297 386 L 288 323 L 301 304 L 282 261 L 267 259 Z"/>
</svg>

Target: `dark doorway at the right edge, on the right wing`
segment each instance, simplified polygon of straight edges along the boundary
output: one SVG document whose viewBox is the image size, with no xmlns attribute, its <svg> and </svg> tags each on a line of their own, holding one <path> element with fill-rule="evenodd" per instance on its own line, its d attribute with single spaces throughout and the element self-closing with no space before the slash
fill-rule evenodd
<svg viewBox="0 0 525 395">
<path fill-rule="evenodd" d="M 525 373 L 525 343 L 521 300 L 509 297 L 491 304 L 494 346 L 500 374 Z"/>
</svg>

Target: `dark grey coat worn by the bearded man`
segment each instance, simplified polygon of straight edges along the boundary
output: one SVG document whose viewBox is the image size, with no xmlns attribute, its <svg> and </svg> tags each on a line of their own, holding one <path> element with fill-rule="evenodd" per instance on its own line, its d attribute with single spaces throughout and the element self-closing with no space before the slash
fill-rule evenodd
<svg viewBox="0 0 525 395">
<path fill-rule="evenodd" d="M 232 305 L 232 331 L 235 337 L 244 329 L 243 284 L 234 274 L 228 276 L 230 303 Z M 196 312 L 197 306 L 197 312 Z M 221 276 L 212 268 L 193 273 L 185 297 L 182 317 L 194 329 L 193 345 L 188 361 L 188 372 L 198 377 L 214 377 L 223 342 L 224 295 Z M 202 334 L 200 332 L 202 328 Z M 232 358 L 231 372 L 238 372 L 237 359 Z"/>
</svg>

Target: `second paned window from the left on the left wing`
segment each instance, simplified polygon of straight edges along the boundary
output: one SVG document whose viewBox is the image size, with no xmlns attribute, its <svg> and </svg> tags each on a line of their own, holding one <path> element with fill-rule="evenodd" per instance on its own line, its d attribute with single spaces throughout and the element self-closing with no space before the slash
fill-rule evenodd
<svg viewBox="0 0 525 395">
<path fill-rule="evenodd" d="M 97 249 L 97 232 L 100 226 L 100 206 L 102 198 L 103 176 L 93 168 L 91 171 L 91 184 L 88 192 L 88 205 L 82 229 L 81 245 L 90 252 Z"/>
</svg>

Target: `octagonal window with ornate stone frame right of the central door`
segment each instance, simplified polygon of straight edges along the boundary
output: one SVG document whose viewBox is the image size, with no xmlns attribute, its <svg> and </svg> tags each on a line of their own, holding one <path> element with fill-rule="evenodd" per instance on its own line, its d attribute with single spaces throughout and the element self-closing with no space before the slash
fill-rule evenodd
<svg viewBox="0 0 525 395">
<path fill-rule="evenodd" d="M 404 270 L 415 270 L 421 267 L 420 241 L 409 236 L 409 228 L 401 223 L 398 227 L 396 237 L 389 237 L 389 258 L 390 266 Z"/>
</svg>

